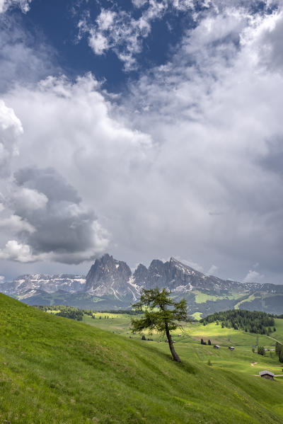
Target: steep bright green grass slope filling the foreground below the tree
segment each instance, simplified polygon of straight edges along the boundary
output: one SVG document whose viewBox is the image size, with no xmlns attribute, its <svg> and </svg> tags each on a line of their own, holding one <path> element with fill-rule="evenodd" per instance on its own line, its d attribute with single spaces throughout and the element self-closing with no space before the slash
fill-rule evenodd
<svg viewBox="0 0 283 424">
<path fill-rule="evenodd" d="M 0 295 L 1 423 L 277 423 L 282 382 L 173 362 L 148 343 Z"/>
</svg>

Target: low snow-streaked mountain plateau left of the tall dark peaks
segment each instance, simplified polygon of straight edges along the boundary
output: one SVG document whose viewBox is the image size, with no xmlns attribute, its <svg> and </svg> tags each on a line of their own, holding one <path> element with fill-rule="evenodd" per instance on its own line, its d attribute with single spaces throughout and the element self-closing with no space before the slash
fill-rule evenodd
<svg viewBox="0 0 283 424">
<path fill-rule="evenodd" d="M 83 290 L 86 277 L 83 275 L 21 275 L 13 282 L 5 282 L 1 285 L 1 292 L 6 294 L 23 293 L 30 290 L 44 290 L 47 293 L 64 290 L 64 292 L 74 293 Z"/>
</svg>

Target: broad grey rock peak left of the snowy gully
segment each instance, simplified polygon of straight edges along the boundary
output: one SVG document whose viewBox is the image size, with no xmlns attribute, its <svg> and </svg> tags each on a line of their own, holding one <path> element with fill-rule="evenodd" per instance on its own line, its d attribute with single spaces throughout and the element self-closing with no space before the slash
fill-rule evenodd
<svg viewBox="0 0 283 424">
<path fill-rule="evenodd" d="M 117 299 L 131 293 L 132 271 L 127 263 L 105 254 L 96 259 L 86 275 L 85 291 L 96 296 L 113 294 Z"/>
</svg>

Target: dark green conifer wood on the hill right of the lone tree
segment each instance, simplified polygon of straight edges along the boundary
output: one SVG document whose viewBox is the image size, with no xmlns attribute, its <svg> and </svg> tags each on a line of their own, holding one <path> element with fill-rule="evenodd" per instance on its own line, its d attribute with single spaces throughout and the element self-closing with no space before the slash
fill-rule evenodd
<svg viewBox="0 0 283 424">
<path fill-rule="evenodd" d="M 258 311 L 244 311 L 235 309 L 232 311 L 215 312 L 202 319 L 203 323 L 221 321 L 221 328 L 241 329 L 250 333 L 270 334 L 275 326 L 273 316 Z"/>
</svg>

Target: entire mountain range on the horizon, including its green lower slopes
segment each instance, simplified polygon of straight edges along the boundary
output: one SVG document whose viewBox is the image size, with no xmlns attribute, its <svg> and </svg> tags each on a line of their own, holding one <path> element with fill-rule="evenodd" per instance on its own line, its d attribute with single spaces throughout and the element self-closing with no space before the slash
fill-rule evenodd
<svg viewBox="0 0 283 424">
<path fill-rule="evenodd" d="M 0 285 L 0 292 L 27 304 L 64 304 L 84 309 L 128 309 L 141 289 L 166 287 L 175 299 L 185 297 L 195 318 L 226 309 L 283 314 L 283 285 L 243 283 L 205 275 L 175 258 L 152 260 L 149 268 L 127 263 L 108 253 L 83 275 L 21 275 Z"/>
</svg>

